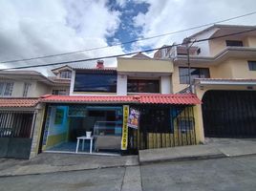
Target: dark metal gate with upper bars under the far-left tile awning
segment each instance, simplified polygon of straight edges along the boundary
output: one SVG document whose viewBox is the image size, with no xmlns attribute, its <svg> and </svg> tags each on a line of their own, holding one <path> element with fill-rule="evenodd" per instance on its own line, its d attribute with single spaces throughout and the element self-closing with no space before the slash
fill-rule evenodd
<svg viewBox="0 0 256 191">
<path fill-rule="evenodd" d="M 29 159 L 33 112 L 0 111 L 0 158 Z"/>
</svg>

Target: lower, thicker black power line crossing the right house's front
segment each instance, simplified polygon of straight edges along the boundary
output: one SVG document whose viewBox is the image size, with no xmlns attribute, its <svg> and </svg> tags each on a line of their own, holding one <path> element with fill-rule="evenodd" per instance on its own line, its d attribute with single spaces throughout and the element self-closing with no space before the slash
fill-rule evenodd
<svg viewBox="0 0 256 191">
<path fill-rule="evenodd" d="M 242 33 L 246 33 L 246 32 L 255 32 L 255 31 L 256 31 L 256 29 L 247 30 L 247 31 L 244 31 L 244 32 L 234 32 L 234 33 L 224 34 L 224 35 L 220 35 L 220 36 L 214 36 L 214 37 L 209 37 L 209 38 L 203 38 L 203 39 L 195 40 L 195 41 L 193 41 L 193 42 L 194 42 L 194 43 L 195 43 L 195 42 L 203 42 L 203 41 L 206 41 L 206 40 L 212 40 L 212 39 L 217 39 L 217 38 L 223 38 L 223 37 L 227 37 L 227 36 L 238 35 L 238 34 L 242 34 Z M 94 60 L 100 60 L 100 59 L 109 59 L 109 58 L 121 57 L 121 56 L 126 56 L 126 55 L 132 55 L 132 54 L 135 54 L 135 53 L 148 53 L 148 52 L 153 52 L 153 51 L 159 51 L 159 50 L 161 50 L 161 49 L 172 48 L 172 47 L 181 46 L 181 45 L 182 45 L 182 43 L 180 43 L 180 44 L 175 44 L 175 45 L 170 45 L 170 46 L 164 46 L 164 47 L 155 48 L 155 49 L 148 49 L 148 50 L 144 50 L 144 51 L 140 51 L 140 52 L 134 52 L 134 53 L 122 53 L 122 54 L 101 56 L 101 57 L 95 57 L 95 58 L 71 60 L 71 61 L 65 61 L 65 62 L 55 62 L 55 63 L 50 63 L 50 64 L 29 65 L 29 66 L 21 66 L 21 67 L 12 67 L 12 68 L 8 68 L 8 69 L 1 69 L 0 71 L 7 71 L 7 70 L 13 70 L 13 69 L 38 68 L 38 67 L 55 66 L 55 65 L 62 65 L 62 64 L 74 64 L 74 63 L 78 63 L 78 62 L 87 62 L 87 61 L 94 61 Z"/>
</svg>

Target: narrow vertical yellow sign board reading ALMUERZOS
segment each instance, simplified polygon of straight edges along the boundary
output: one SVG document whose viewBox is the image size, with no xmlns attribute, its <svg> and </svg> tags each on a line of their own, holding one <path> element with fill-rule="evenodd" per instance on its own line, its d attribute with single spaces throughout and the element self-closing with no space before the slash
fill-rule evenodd
<svg viewBox="0 0 256 191">
<path fill-rule="evenodd" d="M 127 145 L 128 145 L 128 126 L 127 126 L 128 117 L 129 117 L 129 105 L 124 105 L 123 106 L 121 150 L 127 150 Z"/>
</svg>

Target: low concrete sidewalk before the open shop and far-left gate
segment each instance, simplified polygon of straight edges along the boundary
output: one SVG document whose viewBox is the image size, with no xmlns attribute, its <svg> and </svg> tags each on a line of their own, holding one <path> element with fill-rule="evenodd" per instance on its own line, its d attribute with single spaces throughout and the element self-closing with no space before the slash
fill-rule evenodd
<svg viewBox="0 0 256 191">
<path fill-rule="evenodd" d="M 0 159 L 0 177 L 139 165 L 138 156 L 42 153 L 30 160 Z"/>
</svg>

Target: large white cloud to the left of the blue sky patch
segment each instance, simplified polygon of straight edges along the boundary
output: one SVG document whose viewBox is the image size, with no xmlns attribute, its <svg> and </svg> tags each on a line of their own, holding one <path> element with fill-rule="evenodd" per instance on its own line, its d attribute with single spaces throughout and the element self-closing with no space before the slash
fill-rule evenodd
<svg viewBox="0 0 256 191">
<path fill-rule="evenodd" d="M 1 0 L 0 60 L 67 53 L 107 46 L 106 37 L 117 31 L 119 12 L 109 11 L 103 0 Z M 6 66 L 43 64 L 123 53 L 120 47 L 16 62 Z M 114 65 L 116 59 L 106 60 Z M 92 66 L 95 61 L 75 66 Z M 48 67 L 50 69 L 51 67 Z M 46 74 L 46 68 L 37 69 Z"/>
</svg>

